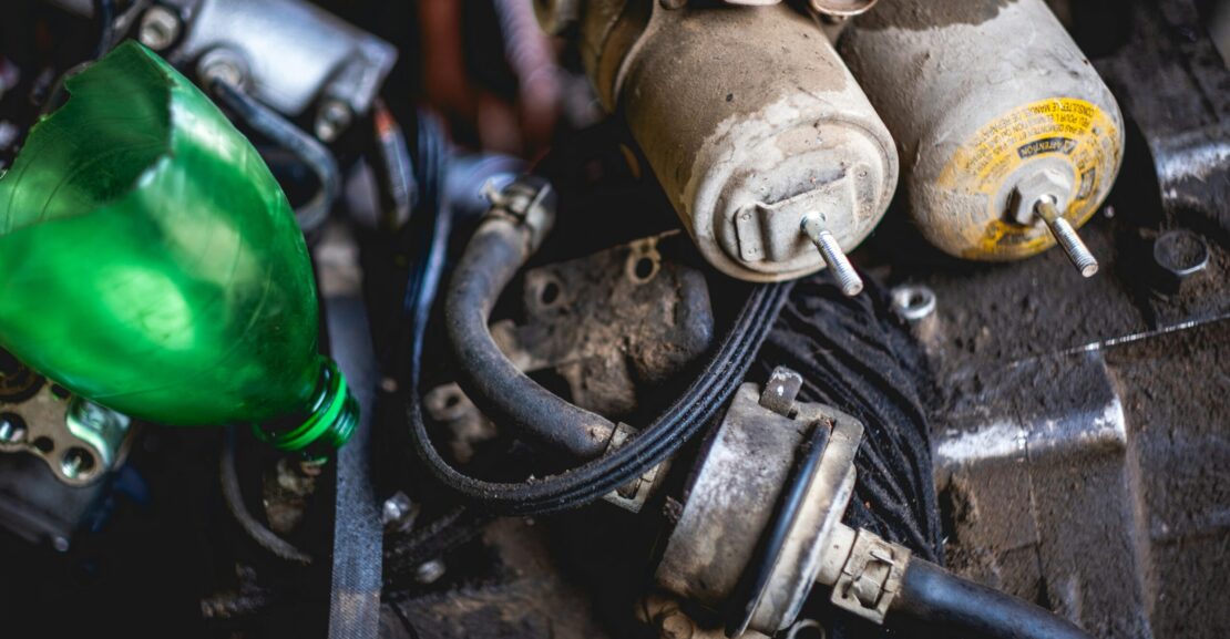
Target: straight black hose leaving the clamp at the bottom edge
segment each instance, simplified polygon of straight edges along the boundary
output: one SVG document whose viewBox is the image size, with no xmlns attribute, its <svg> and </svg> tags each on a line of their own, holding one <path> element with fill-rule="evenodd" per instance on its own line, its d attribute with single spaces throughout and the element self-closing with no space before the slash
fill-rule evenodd
<svg viewBox="0 0 1230 639">
<path fill-rule="evenodd" d="M 914 617 L 946 637 L 986 639 L 1092 639 L 1053 612 L 974 584 L 922 559 L 913 559 L 888 619 Z"/>
</svg>

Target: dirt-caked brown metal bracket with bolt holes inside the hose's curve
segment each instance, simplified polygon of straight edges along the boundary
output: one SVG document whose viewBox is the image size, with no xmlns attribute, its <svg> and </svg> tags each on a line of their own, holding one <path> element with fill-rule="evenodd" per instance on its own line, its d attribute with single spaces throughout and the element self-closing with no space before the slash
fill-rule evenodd
<svg viewBox="0 0 1230 639">
<path fill-rule="evenodd" d="M 629 415 L 638 391 L 674 377 L 713 340 L 705 275 L 674 257 L 683 241 L 673 232 L 530 269 L 525 323 L 496 324 L 496 343 L 524 371 L 555 370 L 577 406 Z"/>
</svg>

